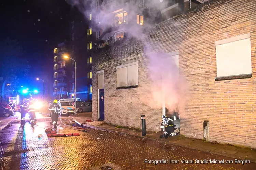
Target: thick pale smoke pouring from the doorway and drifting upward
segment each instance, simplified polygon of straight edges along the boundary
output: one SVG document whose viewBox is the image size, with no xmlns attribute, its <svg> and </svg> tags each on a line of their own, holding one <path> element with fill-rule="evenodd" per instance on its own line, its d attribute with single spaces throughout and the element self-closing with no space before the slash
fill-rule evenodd
<svg viewBox="0 0 256 170">
<path fill-rule="evenodd" d="M 71 5 L 76 6 L 80 12 L 84 14 L 86 19 L 89 19 L 91 14 L 92 19 L 90 21 L 90 26 L 93 28 L 102 28 L 103 30 L 106 29 L 106 26 L 113 23 L 115 15 L 111 12 L 120 9 L 116 5 L 110 3 L 114 2 L 114 0 L 105 0 L 98 8 L 96 8 L 96 0 L 67 1 Z M 101 1 L 102 0 L 100 0 L 100 2 Z M 125 0 L 119 0 L 119 2 L 121 1 L 124 2 Z M 137 2 L 137 0 L 128 0 L 128 4 L 124 8 L 128 12 L 128 22 L 131 20 L 136 21 L 136 11 L 138 11 Z M 127 32 L 130 37 L 135 37 L 141 40 L 145 45 L 144 52 L 147 54 L 149 59 L 148 71 L 150 73 L 149 78 L 152 82 L 151 92 L 153 100 L 152 103 L 150 103 L 150 107 L 157 109 L 162 108 L 162 104 L 164 103 L 165 107 L 170 112 L 179 112 L 178 106 L 184 102 L 188 87 L 185 78 L 182 76 L 181 71 L 177 66 L 178 58 L 174 58 L 173 60 L 173 57 L 165 52 L 153 52 L 152 44 L 162 44 L 161 39 L 157 40 L 148 38 L 147 35 L 142 36 L 143 32 L 145 32 L 145 28 L 146 30 L 150 30 L 150 28 L 155 26 L 156 21 L 161 19 L 159 10 L 153 9 L 164 9 L 168 5 L 169 0 L 150 0 L 147 1 L 147 3 L 145 2 L 146 1 L 144 0 L 144 6 L 146 7 L 141 12 L 144 16 L 144 26 L 140 27 L 137 24 L 136 26 L 138 27 L 123 27 L 122 30 Z M 102 10 L 99 8 L 102 8 Z M 175 30 L 175 27 L 179 24 L 172 22 L 171 25 L 172 29 Z M 168 34 L 168 31 L 166 33 Z M 164 50 L 158 49 L 158 51 Z"/>
</svg>

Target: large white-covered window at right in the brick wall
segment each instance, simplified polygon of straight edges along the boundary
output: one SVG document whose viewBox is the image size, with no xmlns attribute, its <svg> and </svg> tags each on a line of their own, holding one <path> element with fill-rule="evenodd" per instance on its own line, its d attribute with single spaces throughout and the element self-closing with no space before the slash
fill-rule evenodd
<svg viewBox="0 0 256 170">
<path fill-rule="evenodd" d="M 252 74 L 251 38 L 243 34 L 215 42 L 217 78 L 250 78 Z"/>
</svg>

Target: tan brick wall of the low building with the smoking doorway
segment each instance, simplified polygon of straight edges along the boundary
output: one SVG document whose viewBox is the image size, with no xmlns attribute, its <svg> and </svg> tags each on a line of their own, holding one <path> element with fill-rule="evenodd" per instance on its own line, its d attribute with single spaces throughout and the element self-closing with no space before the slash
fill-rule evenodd
<svg viewBox="0 0 256 170">
<path fill-rule="evenodd" d="M 180 105 L 181 133 L 203 138 L 203 121 L 209 120 L 209 139 L 256 148 L 256 1 L 215 0 L 159 23 L 143 41 L 120 41 L 93 55 L 93 117 L 98 117 L 96 71 L 104 70 L 105 121 L 159 129 L 162 110 L 153 109 L 145 42 L 152 50 L 179 51 L 179 67 L 189 81 L 188 100 Z M 251 34 L 252 78 L 215 81 L 217 40 Z M 138 61 L 139 86 L 116 89 L 116 66 Z"/>
</svg>

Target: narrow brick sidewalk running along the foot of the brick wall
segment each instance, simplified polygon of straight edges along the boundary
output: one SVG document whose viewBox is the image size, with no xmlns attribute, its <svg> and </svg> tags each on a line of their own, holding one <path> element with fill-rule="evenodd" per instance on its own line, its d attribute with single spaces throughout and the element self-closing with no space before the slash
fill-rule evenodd
<svg viewBox="0 0 256 170">
<path fill-rule="evenodd" d="M 242 160 L 250 160 L 252 162 L 256 162 L 256 149 L 251 148 L 242 148 L 238 146 L 231 145 L 222 145 L 220 143 L 213 142 L 204 142 L 199 139 L 186 138 L 183 135 L 169 137 L 168 139 L 159 139 L 159 136 L 162 132 L 147 132 L 145 137 L 141 136 L 140 129 L 128 128 L 123 126 L 114 126 L 111 124 L 106 124 L 102 121 L 93 121 L 93 122 L 84 122 L 84 120 L 91 119 L 91 114 L 79 114 L 77 116 L 70 116 L 74 119 L 75 122 L 81 124 L 82 126 L 90 127 L 93 129 L 113 132 L 113 133 L 122 133 L 128 134 L 132 136 L 137 136 L 141 138 L 157 140 L 162 142 L 168 142 L 172 145 L 187 147 L 190 149 L 196 149 L 200 151 L 210 152 L 214 154 L 229 156 L 232 158 L 238 158 Z"/>
</svg>

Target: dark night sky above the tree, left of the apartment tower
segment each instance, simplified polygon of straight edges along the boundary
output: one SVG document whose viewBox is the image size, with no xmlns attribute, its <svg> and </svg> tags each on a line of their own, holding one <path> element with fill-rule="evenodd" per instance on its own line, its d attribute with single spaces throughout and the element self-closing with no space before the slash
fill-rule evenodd
<svg viewBox="0 0 256 170">
<path fill-rule="evenodd" d="M 52 50 L 69 38 L 71 9 L 65 0 L 0 2 L 0 38 L 17 39 L 31 66 L 27 80 L 21 81 L 24 86 L 36 86 L 36 77 L 45 81 L 52 78 Z"/>
</svg>

